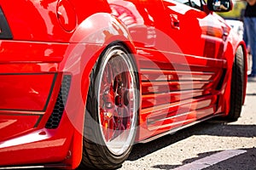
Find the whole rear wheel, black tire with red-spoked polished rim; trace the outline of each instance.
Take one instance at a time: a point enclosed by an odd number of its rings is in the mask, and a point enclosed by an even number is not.
[[[119,43],[103,51],[90,75],[81,167],[120,167],[137,131],[137,70]]]

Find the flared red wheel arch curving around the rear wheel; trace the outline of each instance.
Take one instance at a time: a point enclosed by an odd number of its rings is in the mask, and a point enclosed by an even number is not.
[[[70,99],[67,100],[67,116],[73,122],[76,130],[70,145],[72,156],[65,161],[65,164],[75,168],[79,166],[82,160],[85,113],[82,108],[85,108],[90,86],[90,71],[92,71],[103,50],[113,42],[121,43],[131,54],[136,54],[136,50],[126,26],[111,14],[106,13],[93,14],[84,20],[73,32],[69,42],[70,45],[60,68],[61,71],[68,72],[73,76]],[[134,56],[133,59],[137,66],[137,60]],[[77,96],[80,96],[79,102],[76,99]],[[73,99],[75,101],[71,101]],[[73,105],[82,106],[78,106],[74,111]],[[70,113],[68,114],[69,109]],[[76,111],[78,114],[74,114]]]

